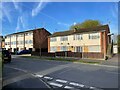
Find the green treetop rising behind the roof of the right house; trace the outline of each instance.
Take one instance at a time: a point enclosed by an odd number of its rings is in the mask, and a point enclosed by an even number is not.
[[[77,23],[75,25],[72,25],[70,29],[91,28],[91,27],[100,26],[100,25],[101,23],[99,20],[85,20],[82,23]]]

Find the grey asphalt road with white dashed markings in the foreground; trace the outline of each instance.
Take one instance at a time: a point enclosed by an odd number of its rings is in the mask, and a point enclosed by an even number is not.
[[[118,88],[117,66],[14,57],[3,68],[4,88]],[[43,81],[47,82],[43,83]]]

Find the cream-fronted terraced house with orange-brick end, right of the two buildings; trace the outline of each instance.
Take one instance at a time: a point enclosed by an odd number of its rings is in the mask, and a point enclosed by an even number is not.
[[[71,51],[90,55],[106,56],[111,43],[108,25],[86,29],[55,32],[48,38],[48,52]]]

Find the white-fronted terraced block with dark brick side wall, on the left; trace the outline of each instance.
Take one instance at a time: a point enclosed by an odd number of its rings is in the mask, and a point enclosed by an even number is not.
[[[5,36],[5,48],[12,52],[21,50],[47,50],[47,37],[50,33],[44,28],[13,33]]]

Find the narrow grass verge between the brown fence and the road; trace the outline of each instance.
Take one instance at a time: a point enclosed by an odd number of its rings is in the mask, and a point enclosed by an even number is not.
[[[86,61],[86,60],[79,60],[79,59],[73,59],[73,58],[63,58],[63,57],[39,57],[39,56],[21,56],[23,58],[33,58],[38,60],[53,60],[53,61],[68,61],[68,62],[76,62],[76,63],[88,63],[88,64],[100,64],[100,62],[97,61]]]

